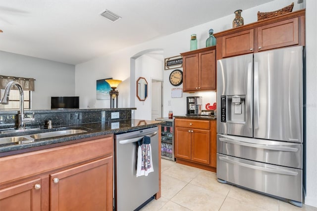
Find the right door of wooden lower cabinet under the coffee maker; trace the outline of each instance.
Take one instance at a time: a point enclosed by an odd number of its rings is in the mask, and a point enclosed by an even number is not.
[[[192,160],[210,164],[210,131],[193,129]]]

